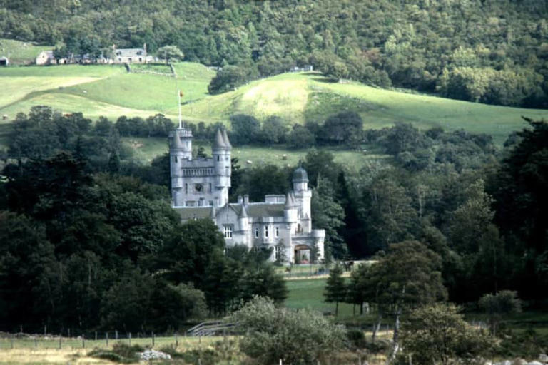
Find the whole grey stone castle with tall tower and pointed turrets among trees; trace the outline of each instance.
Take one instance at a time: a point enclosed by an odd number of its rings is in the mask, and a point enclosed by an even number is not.
[[[217,130],[211,158],[193,158],[192,132],[177,128],[169,134],[171,197],[181,220],[210,218],[228,247],[273,247],[272,261],[294,263],[323,259],[324,230],[312,229],[308,175],[302,167],[293,173],[293,191],[266,195],[250,202],[248,195],[228,202],[230,152],[226,130]]]

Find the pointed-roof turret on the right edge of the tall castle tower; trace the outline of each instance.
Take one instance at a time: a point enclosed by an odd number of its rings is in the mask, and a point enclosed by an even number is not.
[[[222,206],[228,202],[228,188],[230,187],[230,175],[232,175],[230,168],[232,146],[225,130],[217,130],[211,150],[215,165],[215,189],[221,190],[218,204]]]

